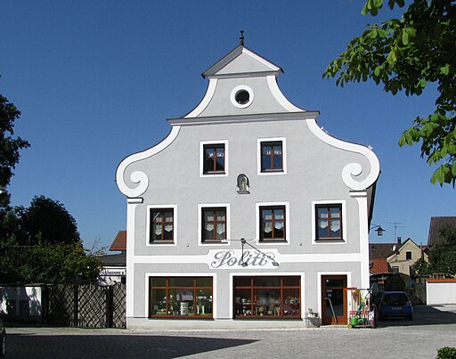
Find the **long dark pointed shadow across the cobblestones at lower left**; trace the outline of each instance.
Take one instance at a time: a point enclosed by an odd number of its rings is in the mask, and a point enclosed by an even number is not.
[[[175,358],[256,340],[160,335],[36,335],[8,334],[8,358]]]

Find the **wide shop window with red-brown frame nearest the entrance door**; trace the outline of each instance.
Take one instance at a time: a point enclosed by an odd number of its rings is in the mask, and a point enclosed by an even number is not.
[[[234,277],[234,317],[299,318],[300,292],[298,276]]]

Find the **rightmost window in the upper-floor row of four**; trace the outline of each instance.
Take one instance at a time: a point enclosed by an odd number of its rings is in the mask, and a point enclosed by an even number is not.
[[[316,205],[316,240],[342,240],[342,205]]]

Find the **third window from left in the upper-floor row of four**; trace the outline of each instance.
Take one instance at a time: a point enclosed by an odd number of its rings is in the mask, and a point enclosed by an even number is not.
[[[285,241],[285,206],[261,206],[260,241]]]

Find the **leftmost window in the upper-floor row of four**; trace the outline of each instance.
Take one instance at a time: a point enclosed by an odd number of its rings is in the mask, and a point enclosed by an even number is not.
[[[150,209],[150,242],[174,241],[175,211],[174,208],[151,208]]]

